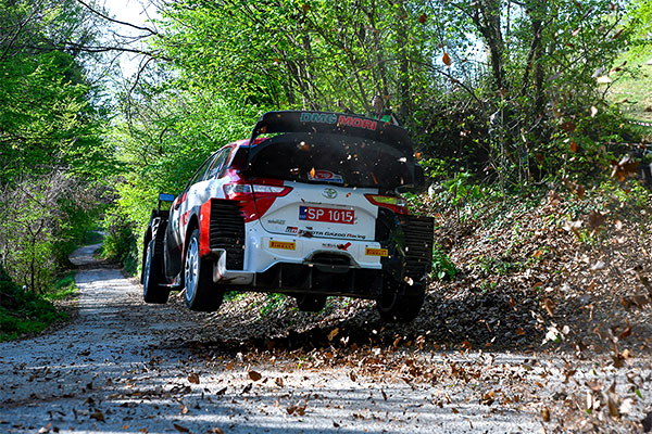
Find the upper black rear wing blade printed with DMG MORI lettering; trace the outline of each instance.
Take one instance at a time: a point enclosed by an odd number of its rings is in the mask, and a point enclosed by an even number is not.
[[[261,135],[283,132],[342,135],[373,140],[394,148],[411,162],[414,159],[412,143],[405,129],[384,120],[347,113],[310,111],[267,112],[255,124],[249,143],[253,143]],[[250,159],[253,157],[253,154],[255,154],[255,151],[250,154]]]

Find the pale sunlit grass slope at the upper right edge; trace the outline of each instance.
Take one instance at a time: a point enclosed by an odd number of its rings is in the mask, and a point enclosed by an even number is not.
[[[636,58],[625,55],[616,66],[626,60],[627,65],[622,71],[610,74],[613,84],[607,92],[607,100],[617,104],[630,119],[652,120],[652,65],[647,64],[650,59],[652,53]]]

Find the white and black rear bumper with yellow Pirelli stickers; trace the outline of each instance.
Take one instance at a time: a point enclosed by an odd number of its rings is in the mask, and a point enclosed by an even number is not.
[[[211,213],[205,257],[213,281],[229,289],[375,298],[388,283],[400,293],[423,290],[430,272],[432,218],[386,214],[381,241],[278,235],[259,220],[244,225],[227,202]]]

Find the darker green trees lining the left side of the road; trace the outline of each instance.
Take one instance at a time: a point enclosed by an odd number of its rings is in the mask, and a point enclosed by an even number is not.
[[[0,266],[46,293],[101,210],[115,170],[100,87],[86,55],[98,35],[74,0],[0,0]]]

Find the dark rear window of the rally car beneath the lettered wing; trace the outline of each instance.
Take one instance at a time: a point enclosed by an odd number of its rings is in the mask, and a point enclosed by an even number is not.
[[[244,155],[241,151],[234,164]],[[286,133],[261,142],[251,154],[246,170],[251,176],[363,188],[397,188],[414,182],[412,155],[361,138]]]

